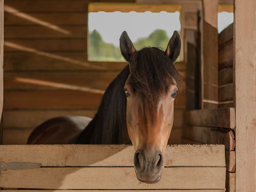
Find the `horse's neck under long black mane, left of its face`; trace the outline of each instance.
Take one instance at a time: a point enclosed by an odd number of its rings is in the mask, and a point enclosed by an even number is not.
[[[129,65],[110,83],[98,112],[75,143],[131,144],[126,125],[126,97],[123,93],[128,75]]]

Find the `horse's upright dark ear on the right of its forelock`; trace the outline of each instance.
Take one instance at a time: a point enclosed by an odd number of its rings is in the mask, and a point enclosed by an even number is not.
[[[180,39],[179,33],[178,31],[174,31],[173,36],[169,40],[165,53],[170,59],[172,59],[172,61],[175,61],[179,56],[180,47],[181,47],[181,39]]]

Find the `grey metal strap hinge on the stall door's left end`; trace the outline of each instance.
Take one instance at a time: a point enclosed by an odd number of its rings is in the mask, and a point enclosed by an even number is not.
[[[4,171],[7,169],[18,170],[18,169],[31,169],[31,168],[39,168],[39,167],[41,167],[41,163],[0,162],[0,171]]]

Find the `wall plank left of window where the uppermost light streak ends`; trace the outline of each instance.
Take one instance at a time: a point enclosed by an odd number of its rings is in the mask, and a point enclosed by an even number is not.
[[[4,38],[84,38],[87,34],[87,26],[62,26],[67,33],[60,33],[45,26],[5,26]]]

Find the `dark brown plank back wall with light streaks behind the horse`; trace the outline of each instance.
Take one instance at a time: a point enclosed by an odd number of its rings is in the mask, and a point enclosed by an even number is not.
[[[102,93],[126,65],[87,61],[89,2],[99,1],[5,0],[4,144],[25,144],[52,117],[93,117]],[[177,66],[185,75],[185,63]],[[170,144],[181,143],[185,103],[182,94]]]

